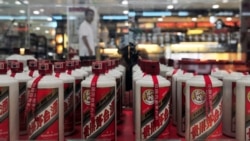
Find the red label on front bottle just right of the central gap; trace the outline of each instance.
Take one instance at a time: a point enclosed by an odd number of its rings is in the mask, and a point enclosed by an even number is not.
[[[141,139],[166,139],[170,135],[169,87],[158,88],[158,124],[155,122],[154,87],[141,87]]]

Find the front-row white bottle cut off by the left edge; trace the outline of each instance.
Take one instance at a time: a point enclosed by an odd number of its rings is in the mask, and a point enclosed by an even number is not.
[[[0,140],[19,139],[18,81],[7,75],[7,63],[0,61]]]

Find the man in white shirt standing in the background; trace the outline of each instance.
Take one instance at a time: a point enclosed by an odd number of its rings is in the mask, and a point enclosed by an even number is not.
[[[79,28],[79,57],[80,60],[95,59],[95,39],[92,22],[95,16],[94,10],[88,8],[85,11],[85,20]]]

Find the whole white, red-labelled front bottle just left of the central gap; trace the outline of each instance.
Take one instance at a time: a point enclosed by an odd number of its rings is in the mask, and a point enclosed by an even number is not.
[[[83,139],[116,140],[116,81],[105,75],[104,65],[93,62],[93,74],[81,83]]]

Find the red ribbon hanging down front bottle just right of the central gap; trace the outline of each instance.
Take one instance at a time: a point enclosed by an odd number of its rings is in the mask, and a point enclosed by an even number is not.
[[[157,75],[152,75],[153,83],[154,83],[154,119],[155,124],[159,123],[159,82],[157,79]]]

